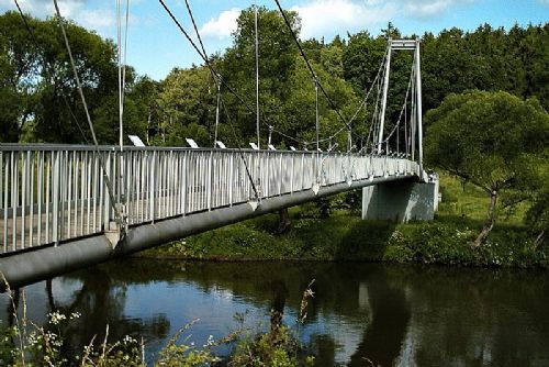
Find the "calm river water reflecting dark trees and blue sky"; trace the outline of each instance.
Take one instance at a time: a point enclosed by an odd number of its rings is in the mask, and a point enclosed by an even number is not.
[[[38,324],[53,309],[81,313],[67,331],[74,349],[109,324],[113,338],[143,336],[152,362],[195,319],[187,335],[198,345],[237,329],[236,319],[268,326],[270,310],[296,327],[312,279],[300,336],[317,366],[549,366],[547,270],[126,259],[26,287],[25,298]],[[10,314],[2,294],[3,325]]]

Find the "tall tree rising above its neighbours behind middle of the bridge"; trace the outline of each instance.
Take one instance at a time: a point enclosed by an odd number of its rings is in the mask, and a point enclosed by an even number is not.
[[[299,34],[300,19],[295,12],[287,12],[292,30]],[[220,71],[225,81],[244,99],[248,108],[255,109],[256,60],[254,10],[242,11],[237,20],[237,30],[233,34],[232,47],[227,48],[220,60]],[[291,94],[288,82],[294,70],[298,48],[290,30],[278,11],[259,8],[259,103],[261,120],[281,130],[285,121],[282,105]],[[224,100],[234,121],[238,122],[239,134],[247,141],[255,141],[256,115],[248,108],[223,89]],[[267,137],[267,126],[261,123],[261,137]],[[249,140],[248,140],[249,138]],[[273,136],[274,144],[283,142],[281,136]],[[288,142],[285,142],[288,143]],[[262,143],[265,145],[265,143]]]

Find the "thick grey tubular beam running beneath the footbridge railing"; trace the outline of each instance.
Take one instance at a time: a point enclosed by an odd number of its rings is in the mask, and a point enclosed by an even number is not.
[[[206,232],[258,215],[299,205],[316,198],[394,181],[416,181],[416,176],[390,176],[355,180],[350,185],[337,184],[313,190],[281,194],[261,200],[257,208],[239,203],[191,215],[177,215],[165,220],[131,226],[115,245],[105,234],[90,235],[57,246],[43,246],[29,252],[0,258],[0,270],[10,287],[18,288],[83,267],[97,265],[116,257],[159,246],[186,236]]]

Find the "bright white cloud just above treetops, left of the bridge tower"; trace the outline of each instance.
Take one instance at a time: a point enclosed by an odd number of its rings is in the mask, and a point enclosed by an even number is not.
[[[321,37],[389,22],[397,7],[381,0],[313,0],[291,8],[302,19],[301,36]]]

